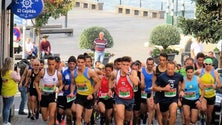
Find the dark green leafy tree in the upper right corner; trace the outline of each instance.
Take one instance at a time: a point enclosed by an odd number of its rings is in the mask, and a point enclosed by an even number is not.
[[[222,0],[193,1],[196,2],[196,18],[180,17],[178,26],[185,35],[200,37],[202,42],[217,43],[222,39]],[[220,60],[222,64],[222,57]]]

